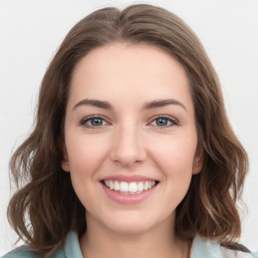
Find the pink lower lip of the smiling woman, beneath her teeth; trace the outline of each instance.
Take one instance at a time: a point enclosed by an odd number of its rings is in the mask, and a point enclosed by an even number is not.
[[[124,194],[120,193],[114,190],[110,190],[105,185],[102,185],[103,190],[105,191],[106,195],[113,201],[119,204],[138,204],[143,202],[145,199],[147,199],[155,190],[156,186],[153,186],[151,189],[147,191],[143,191],[141,193],[135,193],[135,194]]]

